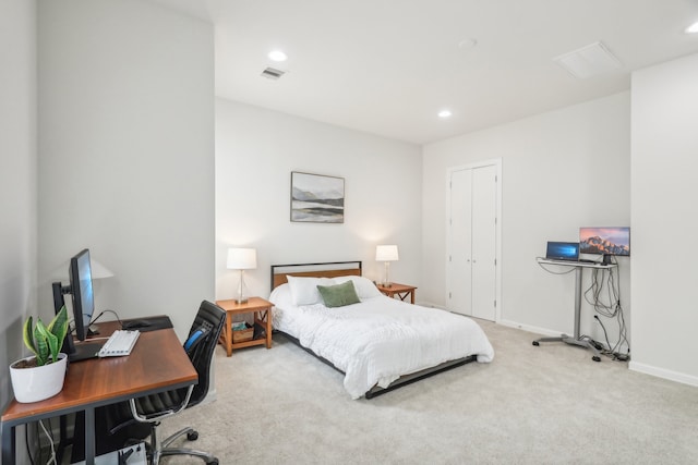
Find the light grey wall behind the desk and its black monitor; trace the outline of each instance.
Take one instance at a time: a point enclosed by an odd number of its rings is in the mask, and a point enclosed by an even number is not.
[[[183,338],[214,298],[213,26],[136,0],[43,1],[38,24],[41,309],[88,247],[116,274],[97,311]]]

